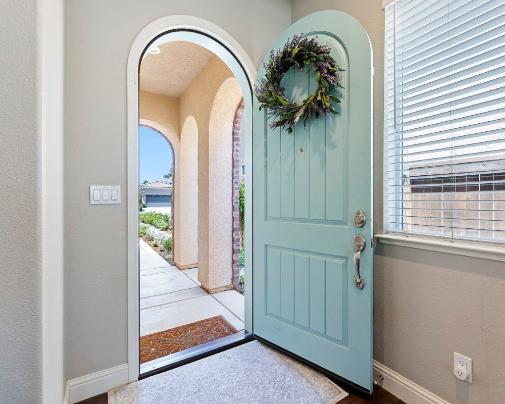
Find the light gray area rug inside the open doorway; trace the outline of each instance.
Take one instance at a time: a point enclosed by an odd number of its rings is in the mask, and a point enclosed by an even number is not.
[[[348,394],[259,341],[109,391],[109,404],[334,404]]]

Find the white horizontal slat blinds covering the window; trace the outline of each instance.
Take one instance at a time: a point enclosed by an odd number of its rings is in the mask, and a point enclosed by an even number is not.
[[[389,230],[505,241],[505,0],[385,8]]]

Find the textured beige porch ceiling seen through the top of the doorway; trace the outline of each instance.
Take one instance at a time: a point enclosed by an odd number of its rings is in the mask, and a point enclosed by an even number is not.
[[[168,42],[158,47],[158,55],[146,54],[140,64],[140,89],[176,98],[214,55],[192,42]]]

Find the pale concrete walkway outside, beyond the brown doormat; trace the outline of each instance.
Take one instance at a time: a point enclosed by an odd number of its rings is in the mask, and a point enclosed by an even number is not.
[[[200,288],[197,268],[179,270],[140,240],[140,336],[215,316],[244,329],[244,296]]]

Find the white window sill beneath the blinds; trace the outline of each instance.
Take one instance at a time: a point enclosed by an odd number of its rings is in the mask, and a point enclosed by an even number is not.
[[[505,247],[404,234],[376,234],[380,243],[505,262]]]

